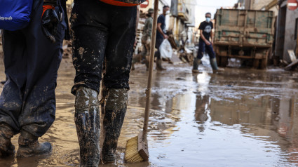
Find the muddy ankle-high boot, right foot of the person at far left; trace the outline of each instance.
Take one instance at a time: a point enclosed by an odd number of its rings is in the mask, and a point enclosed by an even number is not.
[[[32,135],[27,131],[21,130],[17,156],[29,157],[50,153],[52,151],[52,145],[50,145],[50,142],[39,143],[38,138],[39,137]]]

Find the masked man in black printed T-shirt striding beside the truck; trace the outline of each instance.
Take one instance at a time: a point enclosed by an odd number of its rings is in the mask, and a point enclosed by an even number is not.
[[[224,69],[217,67],[217,62],[215,58],[215,51],[213,50],[213,23],[211,22],[211,13],[205,14],[206,20],[201,22],[198,29],[200,29],[200,39],[198,41],[198,55],[194,59],[194,67],[192,72],[198,73],[198,65],[201,63],[201,59],[203,58],[203,54],[206,51],[210,58],[210,65],[212,67],[213,72],[224,71]],[[210,40],[211,38],[211,40]]]

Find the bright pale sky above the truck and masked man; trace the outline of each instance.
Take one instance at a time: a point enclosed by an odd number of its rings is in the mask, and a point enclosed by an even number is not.
[[[205,13],[212,13],[212,18],[217,8],[234,6],[238,0],[194,0],[196,1],[196,27],[205,20]]]

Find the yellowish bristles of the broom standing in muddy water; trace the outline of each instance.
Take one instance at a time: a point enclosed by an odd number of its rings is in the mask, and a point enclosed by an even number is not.
[[[124,160],[129,163],[135,163],[143,161],[142,156],[139,154],[137,150],[138,145],[138,136],[131,138],[126,143],[126,154],[124,156]]]

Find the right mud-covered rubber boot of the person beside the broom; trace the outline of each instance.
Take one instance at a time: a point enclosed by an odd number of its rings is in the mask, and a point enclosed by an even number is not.
[[[114,163],[118,138],[126,115],[128,104],[128,89],[109,89],[109,95],[104,107],[105,138],[102,145],[102,162]]]

